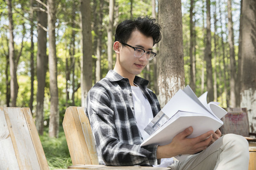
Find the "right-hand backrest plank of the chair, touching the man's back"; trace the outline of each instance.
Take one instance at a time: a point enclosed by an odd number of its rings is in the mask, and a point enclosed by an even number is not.
[[[96,144],[94,142],[93,133],[90,127],[90,121],[84,113],[84,107],[77,107],[76,109],[78,112],[82,130],[83,130],[86,146],[88,148],[89,156],[92,162],[91,164],[99,164],[99,160],[96,152]]]

